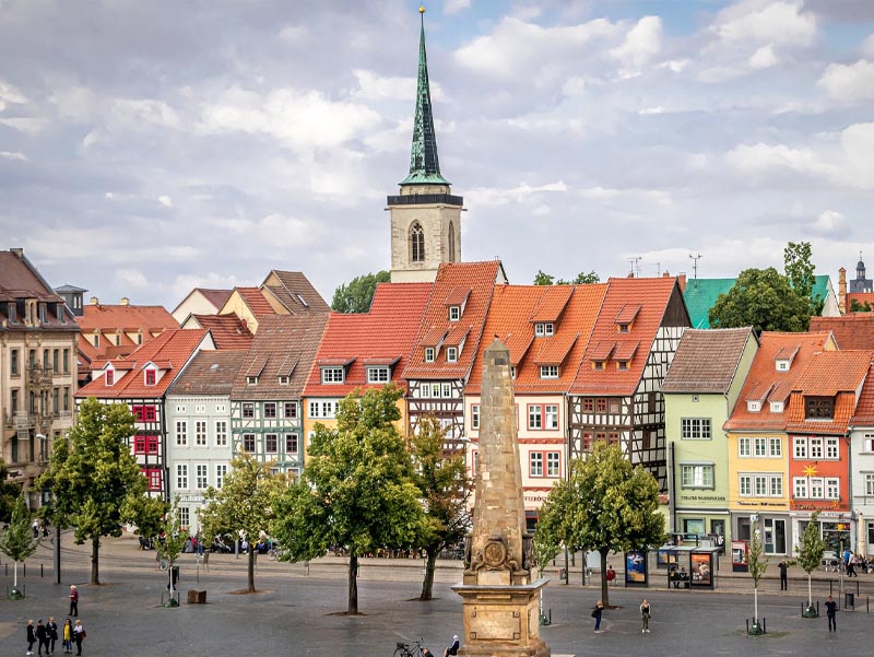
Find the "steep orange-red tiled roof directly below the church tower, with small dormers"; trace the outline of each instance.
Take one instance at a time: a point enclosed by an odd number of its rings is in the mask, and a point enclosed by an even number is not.
[[[444,262],[437,270],[437,278],[432,288],[430,297],[424,313],[422,326],[412,347],[412,353],[402,377],[432,378],[432,379],[464,379],[470,375],[480,339],[483,335],[486,314],[492,303],[492,295],[498,281],[503,280],[503,268],[499,260],[486,262]],[[470,296],[464,305],[464,312],[459,321],[449,321],[445,302],[452,290],[468,289]],[[458,362],[446,361],[446,350],[440,349],[434,363],[425,362],[425,347],[433,336],[440,330],[459,330],[458,327],[470,329],[470,335],[464,349],[458,356]]]

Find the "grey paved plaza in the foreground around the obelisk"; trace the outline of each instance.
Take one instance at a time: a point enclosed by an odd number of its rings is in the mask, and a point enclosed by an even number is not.
[[[331,565],[312,564],[307,574],[302,564],[265,561],[258,564],[257,595],[238,595],[246,586],[246,562],[232,555],[211,555],[210,571],[200,572],[193,555],[180,559],[182,603],[161,607],[166,573],[155,568],[154,553],[141,552],[135,540],[107,541],[102,550],[99,587],[88,582],[85,547],[73,547],[64,537],[62,584],[55,584],[49,548],[28,560],[27,597],[0,600],[0,655],[23,655],[25,624],[54,615],[59,624],[68,611],[70,584],[81,593],[80,618],[88,632],[83,647],[87,656],[138,655],[282,655],[314,657],[391,657],[399,641],[424,638],[437,654],[462,634],[461,599],[449,588],[454,567],[441,568],[435,585],[436,599],[415,600],[421,582],[412,578],[416,567],[362,568],[359,610],[346,617],[346,580],[341,560]],[[45,564],[40,578],[39,564]],[[3,566],[5,561],[3,561]],[[381,565],[381,564],[380,564]],[[3,574],[0,566],[0,575]],[[401,575],[406,573],[406,578]],[[863,576],[864,577],[864,576]],[[871,575],[874,582],[874,575]],[[12,585],[11,565],[3,577]],[[863,584],[867,584],[862,579]],[[741,584],[736,582],[735,584]],[[700,655],[806,655],[869,654],[872,617],[865,606],[838,614],[838,633],[829,634],[825,618],[804,620],[800,607],[806,584],[791,582],[790,595],[777,591],[759,596],[760,615],[768,635],[748,637],[744,621],[752,617],[752,595],[720,591],[666,589],[611,590],[611,602],[621,606],[604,614],[605,632],[593,633],[591,608],[599,591],[579,585],[550,586],[544,607],[552,624],[542,636],[553,655],[659,656]],[[822,586],[822,583],[820,583]],[[208,591],[206,605],[188,605],[190,588]],[[637,607],[646,596],[652,605],[652,632],[641,634]],[[818,596],[820,600],[824,596]],[[56,648],[60,653],[60,648]]]

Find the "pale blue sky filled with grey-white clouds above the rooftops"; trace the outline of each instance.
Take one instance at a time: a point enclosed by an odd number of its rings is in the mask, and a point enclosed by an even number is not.
[[[871,0],[434,0],[425,32],[463,260],[874,271]],[[271,269],[330,303],[390,267],[418,35],[409,0],[0,0],[0,248],[103,303]]]

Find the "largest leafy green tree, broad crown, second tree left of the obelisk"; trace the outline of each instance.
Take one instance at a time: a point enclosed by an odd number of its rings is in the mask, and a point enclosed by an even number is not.
[[[336,429],[316,424],[300,481],[275,503],[274,533],[287,559],[315,559],[331,545],[349,552],[350,614],[358,613],[358,559],[412,548],[423,535],[421,493],[395,426],[401,396],[389,385],[342,400]]]

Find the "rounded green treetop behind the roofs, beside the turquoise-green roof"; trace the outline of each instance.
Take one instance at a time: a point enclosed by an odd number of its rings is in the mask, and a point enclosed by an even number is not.
[[[741,272],[734,286],[720,294],[710,308],[710,326],[752,326],[761,331],[806,331],[811,324],[810,297],[801,296],[773,267]]]

